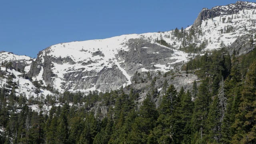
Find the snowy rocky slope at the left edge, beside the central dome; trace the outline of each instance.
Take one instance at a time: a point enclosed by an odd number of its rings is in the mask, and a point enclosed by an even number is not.
[[[27,73],[34,59],[28,56],[18,56],[11,52],[0,52],[0,88],[11,92],[15,88],[16,96],[32,96],[52,94],[48,90],[34,86]],[[6,65],[7,64],[7,65]],[[10,65],[11,64],[11,65]]]

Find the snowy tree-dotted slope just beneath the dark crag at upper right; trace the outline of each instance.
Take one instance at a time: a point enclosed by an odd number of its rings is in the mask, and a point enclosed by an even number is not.
[[[249,33],[249,30],[255,29],[255,10],[242,10],[237,14],[222,15],[212,20],[202,21],[202,32],[204,36],[200,39],[208,40],[206,50],[220,48],[220,43],[223,42],[226,46],[231,45],[238,37]],[[230,21],[228,21],[230,20]],[[226,32],[228,28],[232,30]]]

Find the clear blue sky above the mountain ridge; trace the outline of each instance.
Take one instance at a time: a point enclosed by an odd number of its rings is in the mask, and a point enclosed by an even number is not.
[[[168,31],[236,0],[2,0],[0,51],[36,57],[62,42]]]

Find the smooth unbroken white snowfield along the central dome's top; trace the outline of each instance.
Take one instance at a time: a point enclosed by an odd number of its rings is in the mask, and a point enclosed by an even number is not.
[[[49,52],[54,57],[72,58],[74,62],[89,60],[98,60],[102,57],[94,56],[93,53],[101,51],[104,54],[104,59],[115,58],[115,54],[119,50],[127,50],[124,45],[130,38],[140,38],[138,34],[122,35],[102,40],[87,40],[81,42],[68,42],[56,44],[50,47]]]

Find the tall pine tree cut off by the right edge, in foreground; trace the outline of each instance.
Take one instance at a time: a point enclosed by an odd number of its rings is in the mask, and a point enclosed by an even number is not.
[[[236,134],[232,137],[232,143],[256,143],[256,60],[246,74],[241,100],[233,125]]]

